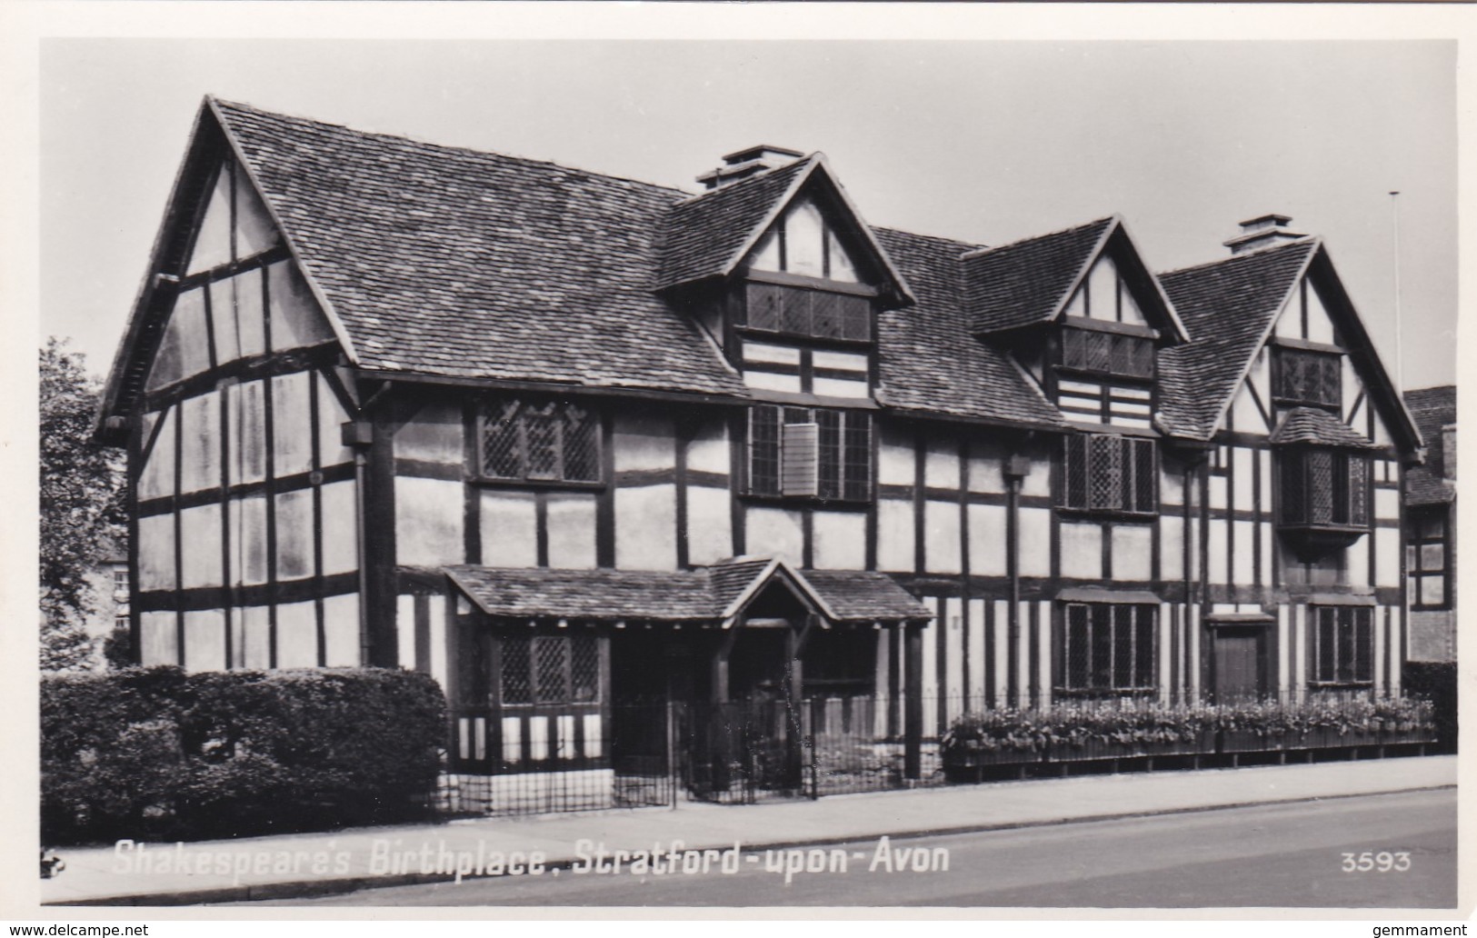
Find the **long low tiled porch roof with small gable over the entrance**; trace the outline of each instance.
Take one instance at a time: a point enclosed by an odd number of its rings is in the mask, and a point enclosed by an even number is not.
[[[795,570],[738,557],[696,570],[558,570],[455,566],[446,575],[489,616],[595,622],[722,622],[767,582],[789,578],[830,622],[902,622],[932,613],[886,573]]]

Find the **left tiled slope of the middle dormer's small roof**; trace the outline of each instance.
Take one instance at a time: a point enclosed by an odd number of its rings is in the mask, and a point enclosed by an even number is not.
[[[975,332],[1049,321],[1077,284],[1114,219],[1027,238],[963,260],[963,307]]]

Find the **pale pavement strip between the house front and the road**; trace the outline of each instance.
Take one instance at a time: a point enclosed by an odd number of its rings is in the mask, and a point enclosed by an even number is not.
[[[1456,756],[994,781],[758,805],[679,802],[538,817],[357,827],[191,843],[61,848],[46,906],[189,906],[352,892],[569,866],[604,845],[789,848],[1353,798],[1456,784]],[[588,843],[582,843],[588,842]],[[499,867],[498,863],[504,866]]]

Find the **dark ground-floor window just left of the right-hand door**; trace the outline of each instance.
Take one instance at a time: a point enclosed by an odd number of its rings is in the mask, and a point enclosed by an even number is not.
[[[1068,603],[1062,629],[1062,690],[1152,691],[1154,606]]]

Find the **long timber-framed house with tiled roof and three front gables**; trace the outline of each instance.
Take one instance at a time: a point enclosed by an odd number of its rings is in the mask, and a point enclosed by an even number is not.
[[[700,182],[207,99],[99,424],[142,663],[427,671],[487,773],[653,696],[916,744],[1399,690],[1421,439],[1322,239],[1155,273],[1118,217],[873,227],[820,154]]]

